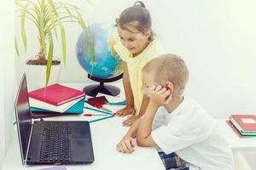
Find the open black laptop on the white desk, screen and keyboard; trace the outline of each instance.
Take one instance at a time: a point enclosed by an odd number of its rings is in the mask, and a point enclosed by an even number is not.
[[[24,74],[15,99],[22,164],[89,164],[94,161],[89,122],[32,120]]]

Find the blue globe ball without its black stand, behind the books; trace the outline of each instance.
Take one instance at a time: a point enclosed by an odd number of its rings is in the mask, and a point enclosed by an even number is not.
[[[90,37],[88,39],[88,53],[85,54],[84,33],[77,42],[77,58],[84,71],[100,79],[117,77],[123,72],[122,59],[115,52],[113,46],[118,41],[116,26],[104,26],[96,23],[90,26],[90,33],[94,45],[94,64],[91,62]],[[92,65],[93,64],[93,65]]]

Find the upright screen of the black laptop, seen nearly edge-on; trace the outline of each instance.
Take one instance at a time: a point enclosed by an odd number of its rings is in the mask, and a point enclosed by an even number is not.
[[[32,125],[32,117],[28,103],[25,74],[21,78],[20,88],[18,89],[17,97],[15,100],[15,116],[20,140],[20,153],[22,163],[24,164]]]

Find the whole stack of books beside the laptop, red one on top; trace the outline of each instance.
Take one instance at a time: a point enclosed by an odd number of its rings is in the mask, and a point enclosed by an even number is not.
[[[28,96],[33,117],[83,113],[84,92],[58,83],[36,89]]]

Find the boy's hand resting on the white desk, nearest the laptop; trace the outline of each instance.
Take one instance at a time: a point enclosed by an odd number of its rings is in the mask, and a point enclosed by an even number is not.
[[[118,144],[116,144],[116,150],[122,153],[131,153],[134,151],[135,145],[136,139],[125,136]]]

